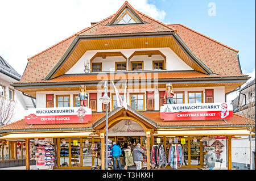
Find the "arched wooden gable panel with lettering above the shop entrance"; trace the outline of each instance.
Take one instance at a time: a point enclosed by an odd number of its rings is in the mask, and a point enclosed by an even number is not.
[[[146,136],[146,132],[135,121],[121,120],[109,129],[109,136]]]

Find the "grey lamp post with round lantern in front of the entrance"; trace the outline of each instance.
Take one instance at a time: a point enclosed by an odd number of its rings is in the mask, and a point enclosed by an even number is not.
[[[110,102],[110,98],[108,96],[108,86],[107,82],[105,82],[105,93],[104,95],[100,98],[100,101],[103,104],[106,104],[106,142],[105,142],[105,169],[108,170],[108,104]]]

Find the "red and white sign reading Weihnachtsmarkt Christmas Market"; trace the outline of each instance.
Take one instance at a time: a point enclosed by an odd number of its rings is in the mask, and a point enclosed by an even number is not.
[[[164,104],[160,118],[164,121],[217,120],[233,116],[233,106],[227,103]]]

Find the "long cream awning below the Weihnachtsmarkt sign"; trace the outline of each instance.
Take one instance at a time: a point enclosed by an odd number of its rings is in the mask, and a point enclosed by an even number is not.
[[[233,136],[249,135],[246,129],[221,129],[221,130],[176,130],[176,131],[157,131],[154,136]],[[255,135],[255,133],[252,133]]]

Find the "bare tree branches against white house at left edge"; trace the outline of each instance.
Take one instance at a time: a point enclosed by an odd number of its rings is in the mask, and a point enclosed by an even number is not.
[[[14,115],[15,102],[8,98],[0,97],[0,127],[9,124]]]

